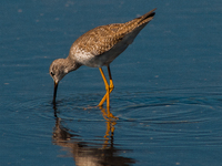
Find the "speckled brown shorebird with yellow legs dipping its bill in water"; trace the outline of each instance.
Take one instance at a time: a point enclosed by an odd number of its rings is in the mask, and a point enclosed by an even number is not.
[[[138,33],[153,19],[155,9],[125,23],[113,23],[97,27],[77,39],[70,48],[67,59],[54,60],[49,73],[54,81],[52,103],[56,104],[59,82],[68,73],[75,71],[81,65],[99,68],[104,81],[107,93],[98,106],[107,101],[110,107],[110,93],[114,89],[110,63],[130,45]],[[108,68],[110,84],[108,83],[102,66]]]

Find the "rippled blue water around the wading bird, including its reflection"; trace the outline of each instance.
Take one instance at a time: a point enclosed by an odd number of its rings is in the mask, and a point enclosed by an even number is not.
[[[1,165],[222,164],[222,2],[1,3]],[[51,62],[88,30],[153,8],[154,20],[111,64],[119,120],[95,107],[105,90],[87,66],[61,81],[53,107]]]

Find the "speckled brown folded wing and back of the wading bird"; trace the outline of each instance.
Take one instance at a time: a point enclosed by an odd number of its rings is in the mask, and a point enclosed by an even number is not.
[[[90,52],[93,55],[100,55],[113,48],[129,33],[135,31],[135,33],[133,33],[134,37],[132,38],[133,41],[140,30],[153,19],[154,10],[155,9],[127,23],[114,23],[94,28],[75,40],[72,46],[73,49]]]

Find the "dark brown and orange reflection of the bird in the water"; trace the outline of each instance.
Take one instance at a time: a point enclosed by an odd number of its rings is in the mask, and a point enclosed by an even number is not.
[[[113,136],[117,117],[109,110],[100,108],[107,123],[104,142],[102,144],[93,145],[92,143],[83,142],[80,135],[72,134],[74,131],[63,127],[62,120],[58,117],[56,106],[53,144],[65,147],[65,151],[73,157],[77,166],[130,166],[134,164],[134,159],[120,156],[121,152],[125,152],[125,149],[114,147]]]

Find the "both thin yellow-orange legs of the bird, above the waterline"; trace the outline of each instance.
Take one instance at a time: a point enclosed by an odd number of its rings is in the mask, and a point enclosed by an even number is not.
[[[108,81],[104,76],[104,73],[102,71],[101,68],[99,68],[100,70],[100,73],[102,75],[102,79],[104,81],[104,85],[105,85],[105,90],[107,90],[107,93],[105,95],[103,96],[103,98],[100,101],[99,105],[98,106],[102,106],[104,101],[107,100],[107,107],[110,107],[110,93],[112,92],[112,90],[114,89],[114,85],[113,85],[113,82],[112,82],[112,75],[111,75],[111,72],[110,72],[110,66],[108,65],[108,73],[109,73],[109,79],[110,79],[110,85],[108,84]]]

